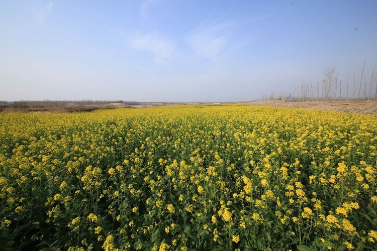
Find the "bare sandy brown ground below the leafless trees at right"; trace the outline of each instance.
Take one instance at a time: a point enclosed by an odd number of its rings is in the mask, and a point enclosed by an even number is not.
[[[248,102],[250,105],[269,105],[289,108],[308,108],[317,110],[334,110],[358,112],[377,115],[377,101],[334,101],[334,102],[285,102],[282,100]]]

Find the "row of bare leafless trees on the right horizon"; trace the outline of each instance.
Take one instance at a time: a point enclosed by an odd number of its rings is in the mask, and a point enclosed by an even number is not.
[[[337,100],[376,100],[377,78],[374,70],[367,78],[364,73],[365,60],[361,71],[361,77],[355,78],[355,74],[347,76],[343,81],[338,78],[335,68],[331,67],[324,73],[324,77],[317,83],[303,83],[290,90],[272,92],[263,95],[258,100],[286,100],[286,101],[337,101]]]

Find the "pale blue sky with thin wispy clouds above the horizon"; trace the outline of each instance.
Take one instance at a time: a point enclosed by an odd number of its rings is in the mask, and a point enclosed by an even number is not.
[[[248,101],[377,72],[377,1],[0,0],[0,100]],[[369,77],[370,78],[370,77]]]

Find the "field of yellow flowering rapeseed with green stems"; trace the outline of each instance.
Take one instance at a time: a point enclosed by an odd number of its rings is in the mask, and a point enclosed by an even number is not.
[[[7,249],[375,249],[377,118],[250,105],[0,114]]]

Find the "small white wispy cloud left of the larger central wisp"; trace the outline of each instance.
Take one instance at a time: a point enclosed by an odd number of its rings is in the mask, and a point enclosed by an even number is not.
[[[132,36],[127,36],[126,40],[132,49],[152,54],[154,61],[159,64],[166,63],[176,49],[175,42],[158,32],[137,32]]]

